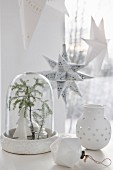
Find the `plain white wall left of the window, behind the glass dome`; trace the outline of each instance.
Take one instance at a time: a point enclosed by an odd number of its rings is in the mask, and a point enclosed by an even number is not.
[[[43,59],[43,55],[57,60],[59,53],[62,52],[63,20],[63,14],[46,6],[30,46],[25,50],[22,42],[18,0],[2,0],[2,131],[4,131],[5,98],[8,85],[19,73],[48,70],[49,66]],[[64,109],[64,106],[61,106],[61,109]],[[58,115],[56,115],[57,118]],[[64,123],[61,121],[58,124],[55,123],[56,128],[59,129],[60,124],[64,127]],[[63,131],[63,127],[61,131]]]

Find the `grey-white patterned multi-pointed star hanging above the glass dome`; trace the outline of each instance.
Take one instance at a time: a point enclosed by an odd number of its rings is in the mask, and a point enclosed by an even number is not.
[[[79,70],[85,67],[85,65],[68,62],[65,44],[63,44],[63,54],[62,56],[59,55],[58,62],[48,57],[45,58],[52,70],[41,72],[41,74],[47,77],[51,82],[56,82],[58,98],[62,96],[66,102],[66,94],[69,88],[81,96],[76,81],[83,81],[84,79],[92,78],[89,75],[79,72]]]

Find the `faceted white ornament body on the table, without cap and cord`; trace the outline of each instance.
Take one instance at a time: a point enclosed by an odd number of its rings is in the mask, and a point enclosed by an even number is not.
[[[78,138],[60,137],[50,146],[56,164],[74,167],[80,160],[82,149]]]

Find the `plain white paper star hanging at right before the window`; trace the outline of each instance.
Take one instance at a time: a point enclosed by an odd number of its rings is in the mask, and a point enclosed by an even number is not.
[[[83,40],[89,45],[85,64],[87,65],[95,59],[95,70],[99,71],[105,56],[108,55],[108,40],[105,37],[103,19],[100,21],[99,26],[97,26],[94,19],[91,18],[90,39]]]

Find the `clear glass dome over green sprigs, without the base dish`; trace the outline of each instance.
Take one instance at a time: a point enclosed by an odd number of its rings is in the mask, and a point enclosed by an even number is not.
[[[18,140],[49,138],[54,130],[53,93],[49,80],[38,73],[23,73],[7,94],[5,136]]]

